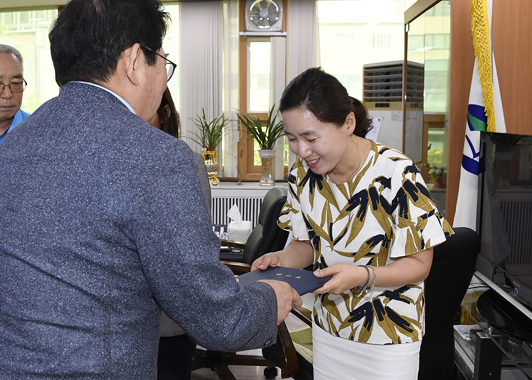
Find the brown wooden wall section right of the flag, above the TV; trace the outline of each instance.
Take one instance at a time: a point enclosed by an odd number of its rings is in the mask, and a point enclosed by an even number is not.
[[[532,135],[532,1],[493,2],[492,34],[508,133]]]

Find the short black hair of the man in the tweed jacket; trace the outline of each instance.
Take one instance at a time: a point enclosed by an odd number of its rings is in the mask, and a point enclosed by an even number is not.
[[[169,21],[159,0],[71,0],[48,35],[57,84],[106,81],[128,47],[159,50]],[[156,55],[143,52],[154,65]]]

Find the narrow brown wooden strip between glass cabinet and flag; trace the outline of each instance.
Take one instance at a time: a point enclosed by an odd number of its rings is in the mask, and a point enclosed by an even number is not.
[[[467,106],[475,53],[471,37],[471,0],[451,2],[451,81],[449,100],[449,152],[447,156],[447,194],[445,218],[454,220],[460,166],[464,146]]]

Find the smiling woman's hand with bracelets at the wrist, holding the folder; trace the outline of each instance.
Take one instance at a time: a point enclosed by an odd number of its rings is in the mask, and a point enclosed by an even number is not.
[[[373,270],[371,270],[370,275],[369,286],[373,283]],[[335,264],[328,268],[315,270],[314,276],[332,276],[332,278],[312,293],[341,294],[356,286],[364,285],[368,279],[368,271],[364,267],[356,267],[350,264]]]

